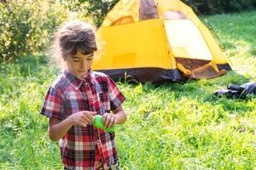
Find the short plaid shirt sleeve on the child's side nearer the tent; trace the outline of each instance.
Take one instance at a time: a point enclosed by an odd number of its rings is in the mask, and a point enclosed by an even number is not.
[[[125,96],[119,91],[115,82],[108,77],[108,93],[110,98],[110,110],[113,111],[125,101]]]

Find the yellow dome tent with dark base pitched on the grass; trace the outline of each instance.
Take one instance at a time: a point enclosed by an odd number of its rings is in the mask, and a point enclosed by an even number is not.
[[[93,69],[139,82],[181,82],[230,71],[211,32],[180,0],[120,0],[97,31]]]

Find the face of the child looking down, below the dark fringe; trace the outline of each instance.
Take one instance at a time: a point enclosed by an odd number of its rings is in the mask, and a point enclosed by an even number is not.
[[[88,70],[90,69],[92,64],[92,59],[93,54],[84,55],[80,51],[75,55],[67,54],[67,69],[75,77],[79,77],[80,79],[82,79],[88,74]]]

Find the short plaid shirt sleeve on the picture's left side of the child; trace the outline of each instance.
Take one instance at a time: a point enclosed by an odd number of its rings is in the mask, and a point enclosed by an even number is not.
[[[61,121],[63,113],[63,99],[60,90],[49,88],[45,99],[41,114],[49,118],[55,118]]]

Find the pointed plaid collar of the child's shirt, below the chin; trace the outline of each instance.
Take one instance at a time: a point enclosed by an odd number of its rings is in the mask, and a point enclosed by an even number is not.
[[[75,77],[71,72],[67,70],[64,71],[64,77],[67,79],[67,82],[69,82],[76,90],[81,87],[83,82],[88,82],[91,85],[94,85],[96,82],[95,74],[91,69],[89,70],[89,74],[86,75],[83,79]]]

